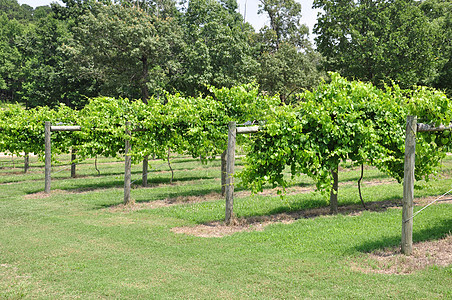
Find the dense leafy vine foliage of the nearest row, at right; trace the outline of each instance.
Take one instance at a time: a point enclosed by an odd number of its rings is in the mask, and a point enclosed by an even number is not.
[[[307,174],[317,188],[330,191],[331,170],[340,163],[369,164],[403,178],[405,123],[408,115],[432,125],[449,124],[452,104],[428,88],[378,89],[370,83],[347,81],[337,73],[331,82],[307,91],[295,106],[279,106],[267,115],[262,133],[246,147],[245,186],[262,191],[265,184],[287,187],[291,178]],[[435,173],[450,150],[448,133],[418,134],[416,177]],[[290,167],[291,178],[283,176]]]

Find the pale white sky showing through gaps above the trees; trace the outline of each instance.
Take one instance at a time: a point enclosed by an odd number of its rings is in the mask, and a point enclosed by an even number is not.
[[[316,23],[317,13],[319,10],[312,9],[313,0],[296,1],[301,3],[302,23],[306,24],[312,33],[312,28]],[[32,7],[50,5],[51,2],[57,2],[60,4],[63,3],[58,0],[18,0],[18,2],[20,4],[28,4]],[[245,17],[245,21],[251,23],[255,30],[259,30],[262,26],[269,24],[267,16],[257,14],[259,0],[237,0],[237,3],[239,4],[240,13]],[[312,34],[310,39],[313,39]]]

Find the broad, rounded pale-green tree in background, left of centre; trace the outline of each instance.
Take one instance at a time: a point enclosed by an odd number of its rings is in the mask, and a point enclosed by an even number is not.
[[[180,29],[173,18],[160,18],[137,6],[100,5],[74,28],[66,47],[73,72],[102,83],[111,96],[141,98],[168,89],[180,68]]]

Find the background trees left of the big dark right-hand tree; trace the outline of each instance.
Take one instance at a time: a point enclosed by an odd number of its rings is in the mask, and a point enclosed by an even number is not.
[[[275,30],[260,37],[236,0],[64,0],[51,11],[1,1],[0,94],[28,107],[82,108],[98,95],[197,97],[252,81],[288,102],[320,77],[293,1],[266,2]]]

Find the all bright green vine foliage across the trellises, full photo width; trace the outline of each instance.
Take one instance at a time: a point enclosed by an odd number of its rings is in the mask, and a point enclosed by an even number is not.
[[[148,104],[127,99],[95,98],[80,111],[25,110],[9,105],[0,110],[0,152],[44,152],[44,121],[80,125],[80,132],[52,137],[53,153],[77,151],[80,158],[117,157],[124,152],[126,122],[133,161],[148,155],[165,157],[168,149],[193,157],[214,157],[227,148],[227,124],[257,120],[260,132],[243,139],[245,167],[242,183],[253,191],[266,184],[287,187],[292,178],[307,174],[318,189],[337,194],[342,162],[372,165],[401,181],[405,148],[405,122],[437,126],[452,120],[452,103],[440,91],[397,85],[378,89],[370,83],[348,81],[339,74],[314,91],[298,95],[298,103],[285,105],[278,97],[259,93],[252,84],[211,89],[211,96],[187,98],[166,95]],[[449,131],[419,135],[416,141],[416,178],[428,179],[451,150]]]

